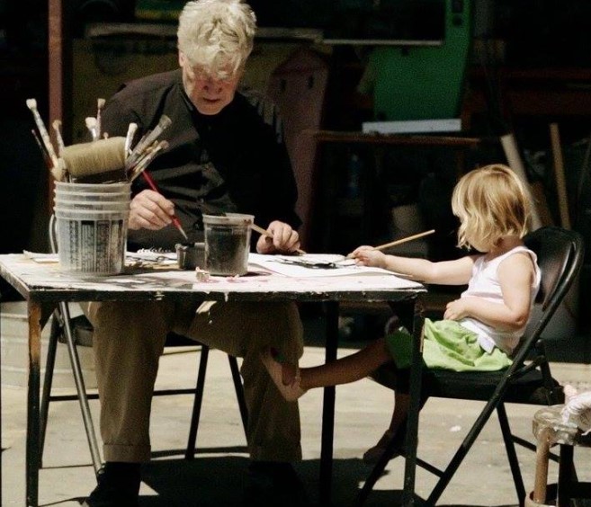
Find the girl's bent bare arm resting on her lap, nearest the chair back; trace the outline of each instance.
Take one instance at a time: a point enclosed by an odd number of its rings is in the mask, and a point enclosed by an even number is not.
[[[507,257],[499,264],[497,274],[503,303],[491,303],[483,298],[460,298],[447,305],[443,318],[459,320],[469,316],[503,331],[526,325],[534,276],[531,257],[525,253]]]

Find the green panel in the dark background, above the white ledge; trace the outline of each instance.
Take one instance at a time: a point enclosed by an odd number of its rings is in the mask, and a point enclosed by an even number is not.
[[[446,0],[442,46],[372,51],[375,120],[457,118],[471,42],[470,0]]]

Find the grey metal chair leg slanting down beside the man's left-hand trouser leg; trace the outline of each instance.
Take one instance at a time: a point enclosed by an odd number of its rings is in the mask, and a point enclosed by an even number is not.
[[[99,450],[98,440],[96,440],[96,433],[94,432],[93,416],[90,413],[90,406],[88,405],[88,396],[86,396],[85,380],[82,376],[82,368],[80,367],[80,358],[76,350],[76,342],[74,340],[74,332],[70,325],[70,311],[66,303],[59,303],[59,311],[64,322],[64,334],[66,336],[67,351],[70,357],[70,364],[72,372],[74,373],[74,383],[76,384],[76,393],[78,395],[78,402],[80,403],[80,411],[82,412],[82,420],[85,424],[86,439],[90,447],[91,458],[93,459],[94,472],[98,471],[103,466],[101,452]]]

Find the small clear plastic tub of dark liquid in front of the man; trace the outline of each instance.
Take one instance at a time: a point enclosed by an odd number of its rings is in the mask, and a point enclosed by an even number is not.
[[[205,269],[212,275],[240,276],[248,271],[253,215],[203,215]]]

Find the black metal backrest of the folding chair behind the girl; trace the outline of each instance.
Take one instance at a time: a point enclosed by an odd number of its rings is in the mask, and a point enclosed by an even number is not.
[[[524,237],[525,245],[538,256],[542,284],[535,301],[539,315],[528,325],[516,354],[523,362],[540,339],[551,317],[578,276],[585,257],[585,243],[578,232],[562,227],[541,227]]]

